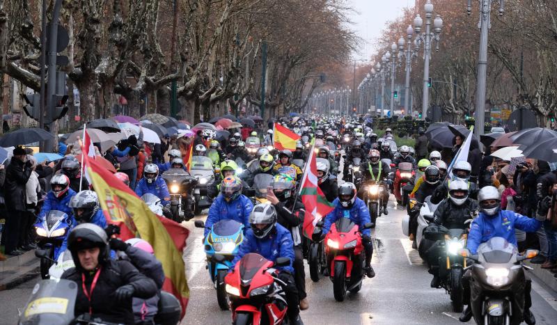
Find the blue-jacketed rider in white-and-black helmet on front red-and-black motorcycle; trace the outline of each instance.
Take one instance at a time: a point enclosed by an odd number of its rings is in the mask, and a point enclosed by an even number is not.
[[[247,253],[258,253],[269,261],[275,262],[277,257],[290,258],[290,265],[276,267],[278,278],[285,286],[286,302],[288,303],[288,318],[293,324],[303,324],[299,317],[299,296],[292,276],[294,268],[292,261],[294,255],[294,242],[290,230],[277,223],[278,216],[276,209],[269,203],[261,203],[253,207],[253,212],[249,215],[250,228],[246,231],[244,241],[238,248],[238,253],[232,264],[242,260]]]

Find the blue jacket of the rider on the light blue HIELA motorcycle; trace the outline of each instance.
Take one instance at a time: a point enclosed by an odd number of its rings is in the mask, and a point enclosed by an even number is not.
[[[203,236],[206,237],[212,225],[221,220],[234,220],[249,228],[249,214],[251,214],[251,210],[253,210],[253,203],[242,194],[231,202],[226,202],[222,195],[217,196],[209,208]]]

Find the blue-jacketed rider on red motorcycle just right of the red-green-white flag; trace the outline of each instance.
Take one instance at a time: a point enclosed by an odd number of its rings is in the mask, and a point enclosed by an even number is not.
[[[366,276],[373,278],[375,271],[371,267],[371,256],[373,255],[371,230],[364,229],[364,225],[371,222],[370,212],[368,207],[366,207],[366,203],[363,203],[363,200],[356,196],[356,192],[356,186],[353,183],[346,182],[340,184],[338,187],[338,198],[333,201],[335,209],[325,216],[322,237],[324,238],[327,235],[331,225],[340,218],[349,218],[350,221],[356,223],[359,229],[363,229],[361,230],[361,242],[366,250],[366,266],[364,267]]]

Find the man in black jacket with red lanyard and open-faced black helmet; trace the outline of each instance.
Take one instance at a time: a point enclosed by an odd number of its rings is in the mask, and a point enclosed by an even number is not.
[[[111,260],[107,233],[97,225],[77,225],[68,238],[75,267],[62,274],[77,284],[74,315],[89,314],[104,322],[134,324],[132,298],[148,299],[157,285],[130,262]]]

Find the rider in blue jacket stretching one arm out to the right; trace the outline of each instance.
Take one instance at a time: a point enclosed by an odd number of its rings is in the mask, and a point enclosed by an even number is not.
[[[480,244],[489,241],[493,237],[503,237],[510,244],[517,246],[515,228],[524,232],[535,232],[546,218],[545,214],[536,214],[535,218],[528,218],[510,210],[502,210],[501,194],[499,194],[495,187],[483,187],[480,189],[478,192],[478,205],[480,207],[480,215],[472,221],[468,239],[466,240],[466,248],[472,254],[477,253]],[[462,280],[464,302],[467,303],[470,299],[469,271],[464,274]],[[532,280],[526,278],[526,287],[524,288],[524,322],[528,325],[535,324],[535,317],[530,310],[532,306],[531,285]],[[472,308],[466,306],[466,309],[460,316],[460,322],[468,322],[471,317]]]

